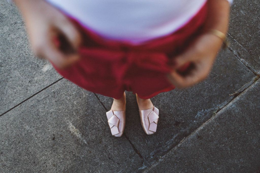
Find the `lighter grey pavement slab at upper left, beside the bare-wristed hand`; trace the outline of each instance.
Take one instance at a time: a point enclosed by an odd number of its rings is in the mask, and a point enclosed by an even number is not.
[[[61,78],[34,57],[18,9],[0,1],[0,115]]]

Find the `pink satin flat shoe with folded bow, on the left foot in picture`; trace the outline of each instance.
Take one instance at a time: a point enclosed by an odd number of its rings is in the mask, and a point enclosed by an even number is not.
[[[126,124],[126,110],[106,112],[108,125],[113,136],[120,137],[123,135]]]

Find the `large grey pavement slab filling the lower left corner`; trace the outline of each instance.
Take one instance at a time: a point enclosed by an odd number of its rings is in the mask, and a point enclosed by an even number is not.
[[[128,140],[111,135],[105,116],[94,93],[60,80],[0,117],[0,172],[133,172],[142,167]]]

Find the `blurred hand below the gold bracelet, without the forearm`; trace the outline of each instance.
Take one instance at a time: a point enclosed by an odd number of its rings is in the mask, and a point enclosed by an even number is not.
[[[184,53],[175,58],[176,66],[173,67],[173,69],[178,69],[190,62],[193,65],[192,69],[186,75],[172,70],[167,75],[168,79],[177,88],[192,86],[204,80],[211,70],[221,45],[222,40],[211,33],[200,35]]]

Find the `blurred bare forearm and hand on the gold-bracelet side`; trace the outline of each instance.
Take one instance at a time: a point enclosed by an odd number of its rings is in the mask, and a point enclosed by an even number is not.
[[[204,27],[205,32],[199,35],[184,53],[174,59],[176,66],[167,75],[177,88],[192,86],[207,77],[223,43],[222,39],[208,31],[216,29],[226,34],[228,29],[229,2],[208,0],[207,3],[209,3],[209,12]],[[177,69],[186,63],[191,63],[192,69],[189,69],[186,75],[182,75]]]

